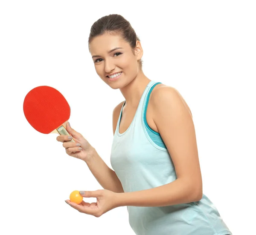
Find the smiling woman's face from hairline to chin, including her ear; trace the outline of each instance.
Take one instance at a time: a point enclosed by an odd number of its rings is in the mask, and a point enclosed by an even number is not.
[[[105,33],[93,38],[90,53],[99,77],[111,88],[120,89],[137,76],[140,68],[138,60],[142,57],[143,51],[139,41],[133,54],[130,44],[119,34]]]

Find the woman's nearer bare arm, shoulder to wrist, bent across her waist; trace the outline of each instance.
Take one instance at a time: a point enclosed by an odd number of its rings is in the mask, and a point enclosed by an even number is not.
[[[169,206],[201,200],[203,186],[191,111],[172,87],[152,92],[154,123],[166,143],[177,179],[166,185],[117,195],[118,206]]]

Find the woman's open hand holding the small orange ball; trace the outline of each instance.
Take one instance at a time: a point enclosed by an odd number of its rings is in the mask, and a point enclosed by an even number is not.
[[[80,191],[80,194],[84,198],[97,198],[97,202],[93,203],[82,201],[80,204],[76,204],[70,200],[65,201],[81,213],[100,217],[106,212],[118,207],[116,192],[107,189],[99,189],[96,191]]]

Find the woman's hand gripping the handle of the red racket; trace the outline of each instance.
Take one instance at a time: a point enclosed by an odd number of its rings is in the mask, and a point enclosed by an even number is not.
[[[67,123],[66,129],[71,137],[73,137],[73,140],[76,141],[76,143],[70,142],[69,135],[58,135],[56,139],[59,142],[63,142],[63,147],[66,149],[66,153],[74,158],[79,158],[84,161],[92,157],[94,148],[90,143],[79,132],[76,132],[71,128],[69,123]]]

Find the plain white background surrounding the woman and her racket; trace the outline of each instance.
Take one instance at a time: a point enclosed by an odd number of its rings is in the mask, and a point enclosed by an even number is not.
[[[124,98],[98,77],[87,44],[108,14],[121,14],[140,37],[145,75],[188,103],[204,194],[233,235],[255,234],[253,2],[1,0],[0,234],[134,234],[126,207],[96,218],[64,202],[73,190],[101,186],[56,134],[35,131],[23,114],[27,92],[55,87],[70,104],[71,126],[111,166],[112,111]]]

